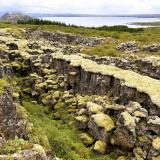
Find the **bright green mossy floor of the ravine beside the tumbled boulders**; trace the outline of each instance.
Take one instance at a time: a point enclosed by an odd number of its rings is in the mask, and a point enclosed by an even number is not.
[[[24,101],[29,120],[48,137],[49,143],[59,158],[63,160],[114,160],[111,155],[96,155],[92,147],[86,148],[79,138],[79,131],[74,127],[73,119],[66,107],[61,108],[61,120],[53,120],[53,114],[46,114],[46,107]]]

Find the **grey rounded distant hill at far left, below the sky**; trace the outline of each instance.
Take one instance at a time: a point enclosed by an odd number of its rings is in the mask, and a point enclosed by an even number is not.
[[[6,13],[0,17],[0,21],[11,22],[11,23],[16,23],[19,20],[28,21],[31,19],[33,19],[31,16],[28,16],[19,12]]]

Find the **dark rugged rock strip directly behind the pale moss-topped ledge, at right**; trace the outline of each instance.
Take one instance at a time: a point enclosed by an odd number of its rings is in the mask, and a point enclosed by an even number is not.
[[[139,74],[155,79],[160,79],[159,58],[120,58],[120,57],[98,57],[87,56],[98,64],[117,66],[122,69],[133,70]]]

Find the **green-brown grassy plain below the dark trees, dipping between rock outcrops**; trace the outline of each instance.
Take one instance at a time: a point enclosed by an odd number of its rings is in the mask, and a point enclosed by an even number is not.
[[[41,29],[50,32],[65,32],[72,34],[79,34],[85,37],[102,37],[107,38],[107,40],[96,47],[86,47],[82,50],[83,53],[89,55],[99,55],[99,56],[126,56],[121,52],[116,50],[116,46],[121,42],[136,41],[139,43],[140,47],[146,44],[153,44],[160,42],[160,27],[144,28],[140,32],[126,32],[126,31],[107,31],[84,27],[74,27],[74,26],[63,26],[63,25],[29,25],[29,24],[5,24],[0,23],[0,28],[12,28],[14,30],[18,28],[32,28]],[[160,53],[152,53],[154,55],[159,55]],[[151,53],[142,52],[138,56],[150,56]],[[127,55],[128,56],[128,55]]]

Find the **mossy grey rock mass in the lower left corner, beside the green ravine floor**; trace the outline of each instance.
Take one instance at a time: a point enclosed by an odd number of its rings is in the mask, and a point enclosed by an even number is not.
[[[1,79],[0,159],[47,160],[46,150],[40,144],[34,144],[33,124],[28,122],[25,109],[15,103],[18,97],[18,93],[14,93],[9,84]]]

